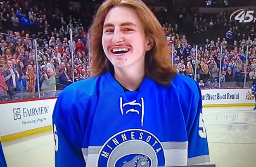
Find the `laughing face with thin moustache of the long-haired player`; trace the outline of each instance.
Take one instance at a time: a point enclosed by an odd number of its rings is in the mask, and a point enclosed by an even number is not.
[[[142,23],[133,9],[114,7],[108,12],[102,45],[115,69],[131,65],[144,67],[145,53],[150,49],[148,43]]]

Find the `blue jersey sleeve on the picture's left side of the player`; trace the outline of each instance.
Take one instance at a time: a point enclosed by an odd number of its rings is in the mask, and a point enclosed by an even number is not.
[[[76,100],[72,90],[65,89],[59,95],[52,114],[55,167],[85,167],[81,150],[83,135]]]

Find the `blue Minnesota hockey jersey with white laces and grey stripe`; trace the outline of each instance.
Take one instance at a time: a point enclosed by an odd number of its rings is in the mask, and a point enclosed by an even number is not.
[[[59,95],[52,115],[56,167],[172,166],[209,162],[198,84],[145,78],[124,91],[106,72]]]

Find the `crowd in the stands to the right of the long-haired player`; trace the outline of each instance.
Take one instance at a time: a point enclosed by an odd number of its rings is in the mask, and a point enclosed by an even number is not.
[[[185,35],[180,37],[177,25],[163,25],[166,38],[175,47],[173,63],[177,72],[196,78],[201,88],[243,87],[245,74],[247,82],[256,79],[255,23],[230,21],[230,11],[219,15],[193,12],[179,15],[181,22],[186,22],[190,28],[194,27],[190,31],[190,42]],[[192,16],[194,19],[190,22]],[[196,60],[194,41],[199,39],[204,39],[204,44],[198,44]],[[221,46],[223,50],[220,60]],[[194,76],[195,70],[197,76]]]

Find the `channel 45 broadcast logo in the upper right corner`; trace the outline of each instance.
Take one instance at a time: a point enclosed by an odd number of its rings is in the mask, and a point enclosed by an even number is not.
[[[255,23],[256,16],[254,14],[254,10],[239,9],[230,15],[230,21],[232,20],[238,21],[239,23]]]

